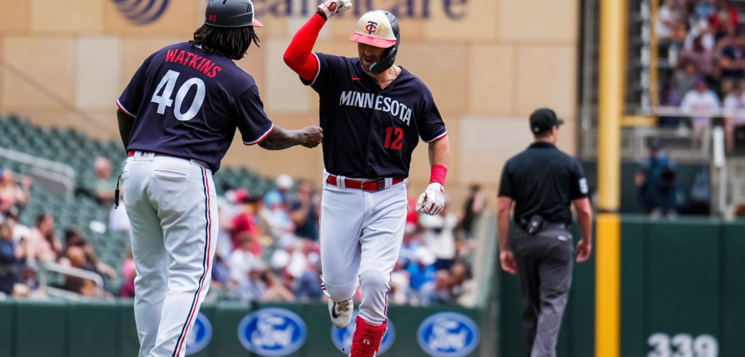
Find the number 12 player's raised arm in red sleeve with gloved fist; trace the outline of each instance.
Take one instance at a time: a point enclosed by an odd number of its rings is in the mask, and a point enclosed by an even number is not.
[[[318,73],[318,60],[312,53],[323,25],[329,17],[343,13],[352,7],[349,0],[329,0],[318,5],[318,10],[305,25],[297,31],[285,51],[285,63],[303,80],[314,80]]]

